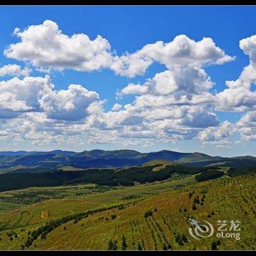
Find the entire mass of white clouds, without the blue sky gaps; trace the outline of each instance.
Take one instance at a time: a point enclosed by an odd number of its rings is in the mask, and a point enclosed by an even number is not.
[[[226,89],[214,93],[215,83],[206,72],[211,65],[234,61],[213,39],[199,41],[184,34],[170,42],[144,45],[135,53],[118,56],[108,39],[86,34],[64,34],[59,26],[42,24],[15,29],[18,42],[4,56],[24,61],[0,67],[0,137],[31,143],[113,143],[151,146],[155,141],[176,143],[197,140],[202,146],[229,147],[238,132],[241,140],[255,140],[256,133],[256,36],[241,39],[239,46],[249,56],[237,80],[227,80]],[[116,91],[117,102],[105,110],[106,99],[85,85],[70,84],[56,90],[50,79],[30,76],[31,67],[41,72],[93,72],[110,69],[116,75],[144,75],[154,63],[165,71],[142,83],[128,83]],[[21,78],[23,77],[23,78]],[[119,99],[132,97],[124,105]],[[129,98],[130,99],[130,98]],[[219,121],[217,111],[244,113],[235,124]],[[95,136],[97,134],[97,136]]]

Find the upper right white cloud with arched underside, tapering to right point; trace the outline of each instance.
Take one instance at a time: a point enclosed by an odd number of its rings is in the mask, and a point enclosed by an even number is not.
[[[206,64],[223,64],[233,60],[234,57],[225,54],[211,38],[204,37],[195,42],[181,34],[171,42],[158,41],[143,46],[135,53],[116,56],[111,68],[118,75],[132,78],[143,75],[154,61],[165,64],[167,69],[172,70],[177,66],[203,67]]]

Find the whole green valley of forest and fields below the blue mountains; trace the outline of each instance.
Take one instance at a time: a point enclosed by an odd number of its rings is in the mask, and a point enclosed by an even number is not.
[[[187,155],[187,165],[164,154],[135,166],[0,174],[0,249],[255,249],[256,167],[202,165],[204,154]],[[197,240],[190,219],[240,220],[241,240]]]

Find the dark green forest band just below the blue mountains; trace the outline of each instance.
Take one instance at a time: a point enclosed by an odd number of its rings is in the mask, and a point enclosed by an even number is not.
[[[228,176],[238,176],[252,173],[255,167],[230,168]],[[197,174],[197,181],[206,181],[224,175],[219,167],[189,167],[185,165],[166,165],[158,171],[154,166],[138,166],[128,168],[88,169],[80,171],[59,171],[51,173],[4,173],[0,175],[0,191],[24,189],[26,187],[53,187],[71,184],[97,184],[99,186],[133,186],[134,182],[141,184],[164,181],[174,173]],[[200,173],[200,174],[199,174]]]

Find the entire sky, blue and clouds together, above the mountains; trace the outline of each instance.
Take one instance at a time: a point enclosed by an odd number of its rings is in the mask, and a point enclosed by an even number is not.
[[[256,156],[256,7],[0,7],[0,151]]]

